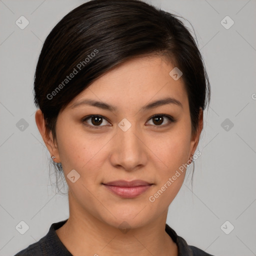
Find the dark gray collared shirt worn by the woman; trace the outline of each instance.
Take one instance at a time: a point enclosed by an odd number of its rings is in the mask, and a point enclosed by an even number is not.
[[[73,256],[57,236],[56,229],[61,227],[67,219],[52,223],[48,233],[39,241],[30,244],[25,249],[19,251],[14,256]],[[191,245],[178,236],[176,232],[167,224],[165,231],[171,239],[177,244],[178,256],[213,256],[205,251]]]

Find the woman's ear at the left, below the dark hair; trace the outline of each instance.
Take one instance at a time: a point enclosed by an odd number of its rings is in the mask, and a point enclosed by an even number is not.
[[[54,159],[55,162],[60,162],[57,145],[53,141],[52,132],[45,126],[45,120],[41,109],[38,109],[35,112],[35,122],[50,155],[56,157]]]

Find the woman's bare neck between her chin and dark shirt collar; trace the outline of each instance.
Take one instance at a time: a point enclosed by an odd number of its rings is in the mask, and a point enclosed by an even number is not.
[[[75,256],[177,256],[176,243],[165,232],[168,209],[147,225],[121,229],[77,207],[69,198],[69,218],[56,230],[59,239]]]

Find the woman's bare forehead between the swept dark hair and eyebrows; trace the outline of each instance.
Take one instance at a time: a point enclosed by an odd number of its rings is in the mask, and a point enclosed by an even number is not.
[[[127,108],[172,97],[185,107],[188,102],[183,81],[170,75],[174,67],[160,56],[131,58],[97,78],[69,106],[89,98]]]

